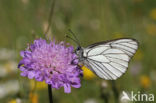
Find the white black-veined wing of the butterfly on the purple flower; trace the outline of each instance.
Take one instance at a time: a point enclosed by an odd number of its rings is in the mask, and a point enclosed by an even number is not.
[[[137,48],[138,42],[127,38],[92,44],[84,48],[84,65],[100,78],[116,80],[127,70]]]

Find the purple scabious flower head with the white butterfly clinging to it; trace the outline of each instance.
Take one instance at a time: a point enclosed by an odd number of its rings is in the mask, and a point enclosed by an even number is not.
[[[22,60],[18,68],[21,76],[45,81],[52,88],[64,87],[65,93],[71,92],[71,87],[80,88],[78,59],[73,46],[55,41],[37,39],[25,51],[21,51]]]

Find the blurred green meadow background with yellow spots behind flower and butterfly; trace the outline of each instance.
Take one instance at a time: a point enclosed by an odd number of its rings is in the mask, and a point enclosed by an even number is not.
[[[47,85],[19,75],[19,52],[44,37],[52,0],[0,0],[0,103],[48,103]],[[121,103],[122,91],[156,94],[155,0],[56,0],[48,36],[66,41],[68,29],[82,46],[130,37],[139,49],[128,71],[116,81],[84,68],[80,89],[53,90],[54,103]],[[142,102],[140,102],[142,103]]]

